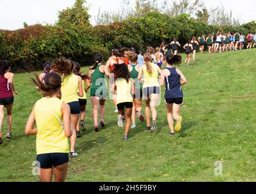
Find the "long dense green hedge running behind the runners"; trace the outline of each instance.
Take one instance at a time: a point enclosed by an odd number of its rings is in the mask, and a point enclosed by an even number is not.
[[[66,20],[64,20],[67,22]],[[110,50],[120,47],[134,47],[145,50],[151,45],[157,47],[161,41],[177,38],[183,45],[192,36],[207,35],[217,31],[244,34],[256,31],[256,23],[241,26],[213,26],[180,15],[175,18],[158,12],[147,13],[141,18],[128,18],[123,22],[92,27],[87,22],[73,25],[40,24],[21,30],[0,30],[0,59],[13,64],[15,72],[39,70],[45,61],[59,56],[73,59],[82,65],[91,65],[93,56],[101,52],[106,60]]]

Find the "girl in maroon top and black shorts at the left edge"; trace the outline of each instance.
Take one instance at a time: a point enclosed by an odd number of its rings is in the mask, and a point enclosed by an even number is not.
[[[4,107],[7,110],[7,139],[12,139],[12,107],[13,92],[18,95],[15,90],[13,78],[14,74],[10,72],[11,66],[8,61],[0,60],[0,145],[2,144],[2,122],[4,120]]]

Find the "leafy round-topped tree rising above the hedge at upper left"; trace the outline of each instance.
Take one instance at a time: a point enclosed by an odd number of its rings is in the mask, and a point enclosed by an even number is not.
[[[76,0],[71,8],[59,12],[58,25],[90,25],[89,6],[85,6],[86,0]]]

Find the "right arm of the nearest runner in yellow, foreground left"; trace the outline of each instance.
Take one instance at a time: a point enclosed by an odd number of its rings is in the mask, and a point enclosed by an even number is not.
[[[67,138],[70,138],[72,136],[72,130],[70,129],[70,107],[66,103],[62,103],[61,105],[61,113],[63,115],[63,127],[64,127],[64,133]]]

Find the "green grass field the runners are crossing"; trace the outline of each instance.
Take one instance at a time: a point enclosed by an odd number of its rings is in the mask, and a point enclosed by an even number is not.
[[[183,131],[175,137],[169,135],[164,89],[157,133],[147,132],[137,119],[128,141],[117,127],[112,101],[106,102],[106,129],[93,132],[89,101],[87,131],[77,141],[79,156],[70,161],[67,181],[256,181],[255,53],[197,53],[190,67],[181,65],[188,83],[183,87]],[[4,138],[0,146],[0,181],[39,181],[32,175],[36,136],[24,135],[30,110],[41,98],[30,84],[32,76],[15,77],[14,138]],[[7,132],[5,121],[2,131]],[[216,161],[223,162],[223,176],[214,175]]]

